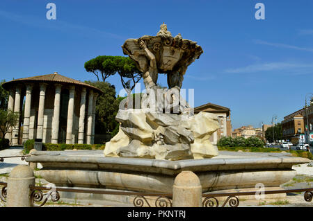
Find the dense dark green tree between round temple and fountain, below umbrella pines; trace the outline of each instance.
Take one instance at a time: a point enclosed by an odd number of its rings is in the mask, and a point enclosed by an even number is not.
[[[101,81],[86,81],[86,83],[101,89],[103,92],[98,96],[96,103],[95,133],[107,134],[112,132],[118,125],[115,116],[118,114],[120,104],[120,100],[115,98],[115,87],[108,82]]]

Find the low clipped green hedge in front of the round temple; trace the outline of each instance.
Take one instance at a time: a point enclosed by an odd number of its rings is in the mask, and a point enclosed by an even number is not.
[[[24,143],[24,153],[27,154],[35,145],[34,140]],[[66,144],[66,143],[42,143],[42,150],[61,151],[61,150],[104,150],[104,144]]]

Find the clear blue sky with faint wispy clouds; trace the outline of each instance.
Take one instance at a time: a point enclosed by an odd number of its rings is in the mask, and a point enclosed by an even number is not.
[[[56,20],[46,5],[56,3]],[[265,20],[255,19],[264,3]],[[0,77],[58,73],[96,80],[83,68],[97,55],[123,55],[127,38],[192,39],[204,53],[188,67],[183,87],[195,106],[230,107],[232,125],[278,122],[313,93],[313,1],[0,1]],[[118,76],[108,80],[120,91]],[[166,76],[160,76],[166,85]]]

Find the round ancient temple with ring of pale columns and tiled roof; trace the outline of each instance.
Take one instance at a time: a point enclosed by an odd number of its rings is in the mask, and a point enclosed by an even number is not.
[[[8,110],[19,123],[6,134],[11,145],[28,139],[43,143],[94,143],[95,105],[102,93],[79,80],[58,73],[5,82]]]

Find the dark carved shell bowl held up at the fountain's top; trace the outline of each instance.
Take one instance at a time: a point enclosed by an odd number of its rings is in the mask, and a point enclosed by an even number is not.
[[[188,67],[203,53],[197,42],[176,37],[144,35],[138,39],[127,39],[122,45],[123,53],[129,55],[143,73],[147,71],[147,56],[139,42],[143,40],[147,48],[154,54],[159,73],[168,73],[181,67]]]

